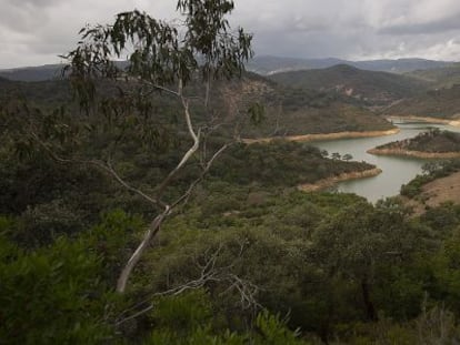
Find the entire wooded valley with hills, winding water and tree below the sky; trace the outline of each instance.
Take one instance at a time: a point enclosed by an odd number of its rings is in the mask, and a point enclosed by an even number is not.
[[[223,2],[179,2],[184,37],[87,27],[63,79],[0,71],[0,342],[457,342],[456,64],[248,72],[251,35],[207,22]]]

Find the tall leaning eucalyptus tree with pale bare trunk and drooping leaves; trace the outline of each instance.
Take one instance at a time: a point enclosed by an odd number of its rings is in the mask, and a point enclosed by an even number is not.
[[[87,26],[77,48],[63,57],[69,61],[64,74],[82,114],[14,109],[27,115],[26,123],[17,125],[18,142],[26,151],[38,145],[58,162],[97,168],[151,205],[156,216],[119,276],[120,293],[163,221],[189,199],[214,160],[238,141],[246,115],[252,113],[256,121],[261,116],[258,106],[246,113],[233,106],[233,113],[226,114],[222,104],[212,109],[210,103],[212,81],[241,75],[243,62],[252,55],[252,37],[242,29],[230,30],[227,16],[232,9],[232,0],[179,0],[180,24],[134,10],[117,14],[112,24]],[[127,61],[120,61],[124,58]],[[166,99],[163,111],[158,111],[156,104]],[[223,100],[237,103],[230,97]],[[176,119],[177,109],[182,119]],[[219,145],[210,143],[217,131],[219,138],[226,138]],[[117,166],[117,149],[128,140],[144,145],[152,155],[188,146],[179,162],[146,191],[129,182]],[[91,150],[81,149],[82,142],[92,142]],[[99,150],[94,152],[94,148]],[[151,161],[156,162],[154,156]],[[181,193],[167,195],[174,179],[197,165],[199,172]]]

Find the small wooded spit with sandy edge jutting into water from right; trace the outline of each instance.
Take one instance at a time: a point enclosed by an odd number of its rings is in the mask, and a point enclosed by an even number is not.
[[[460,133],[432,129],[416,138],[390,142],[368,150],[368,153],[421,159],[460,158]]]

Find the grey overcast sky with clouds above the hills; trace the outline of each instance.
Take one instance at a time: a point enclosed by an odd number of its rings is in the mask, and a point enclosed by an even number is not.
[[[259,55],[460,60],[460,0],[234,0]],[[0,68],[59,62],[86,23],[134,8],[173,19],[176,0],[0,0]]]

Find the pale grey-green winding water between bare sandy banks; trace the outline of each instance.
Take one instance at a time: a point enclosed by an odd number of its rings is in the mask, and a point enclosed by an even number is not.
[[[393,196],[399,194],[402,184],[411,181],[417,174],[421,173],[422,165],[427,160],[416,158],[373,155],[366,151],[378,145],[413,138],[421,132],[428,131],[430,128],[439,128],[452,132],[460,132],[459,128],[433,124],[433,123],[396,123],[400,128],[400,132],[393,135],[378,138],[359,138],[359,139],[339,139],[330,141],[317,141],[311,144],[327,150],[329,154],[339,152],[341,155],[350,153],[354,161],[366,161],[377,165],[382,173],[367,179],[350,180],[341,182],[337,185],[337,190],[343,193],[356,193],[367,197],[370,202],[379,199]]]

